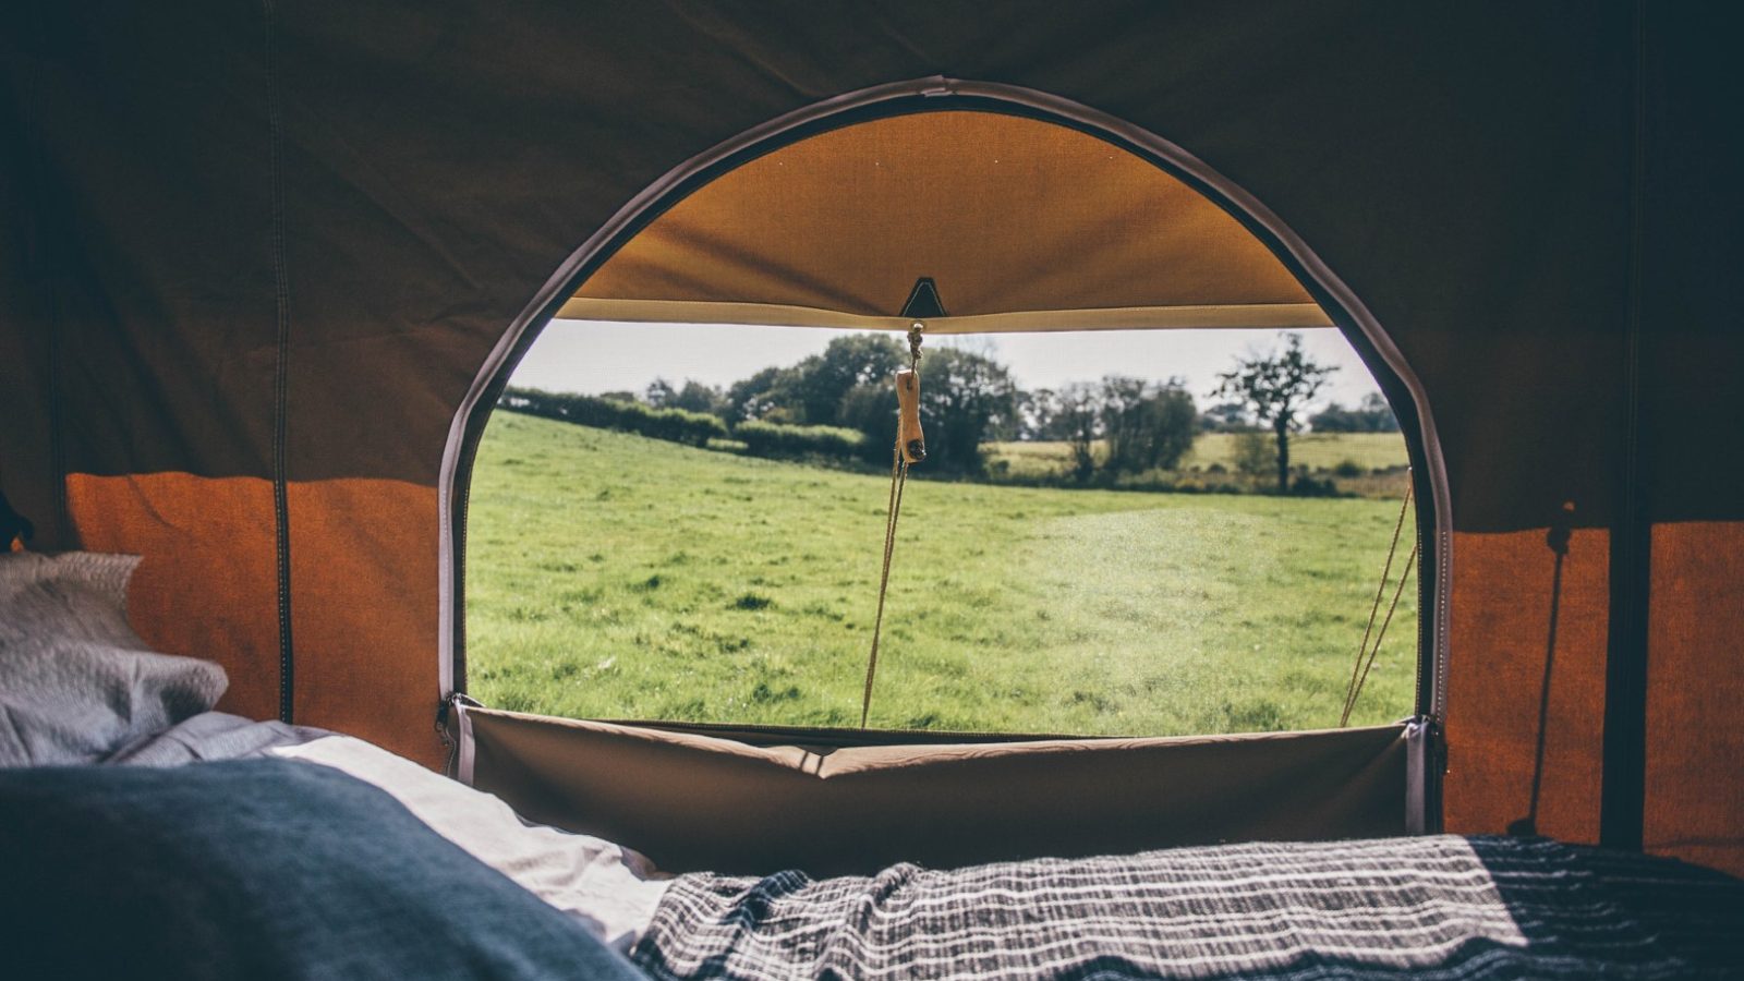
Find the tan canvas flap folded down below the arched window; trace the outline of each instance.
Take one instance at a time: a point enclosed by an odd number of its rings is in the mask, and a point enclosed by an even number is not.
[[[870,873],[1404,833],[1404,726],[1191,738],[752,745],[466,709],[469,779],[666,871]],[[755,737],[753,731],[736,733]],[[862,733],[844,733],[858,742]]]

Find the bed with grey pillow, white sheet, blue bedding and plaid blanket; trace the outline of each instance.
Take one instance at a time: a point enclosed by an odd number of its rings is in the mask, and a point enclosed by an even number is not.
[[[1543,838],[664,875],[361,740],[209,710],[221,672],[126,628],[127,573],[0,557],[19,976],[1744,974],[1744,883]]]

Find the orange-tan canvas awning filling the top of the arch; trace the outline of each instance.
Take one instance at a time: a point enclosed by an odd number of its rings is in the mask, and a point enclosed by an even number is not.
[[[1311,302],[1235,218],[1139,157],[982,112],[877,119],[739,166],[637,234],[577,297],[896,316]]]

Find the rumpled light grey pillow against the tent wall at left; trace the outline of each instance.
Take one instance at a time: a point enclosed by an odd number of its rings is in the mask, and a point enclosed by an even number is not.
[[[0,553],[0,766],[96,763],[204,712],[223,669],[127,625],[138,555]]]

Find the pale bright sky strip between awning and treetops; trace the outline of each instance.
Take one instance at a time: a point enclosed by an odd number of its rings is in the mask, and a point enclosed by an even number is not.
[[[546,391],[642,391],[656,377],[729,386],[769,365],[816,354],[832,337],[853,333],[814,326],[698,326],[555,319],[514,370],[513,384]],[[1301,330],[1303,347],[1338,365],[1318,403],[1355,405],[1380,391],[1369,370],[1334,328]],[[1235,358],[1278,344],[1268,330],[1090,330],[1074,333],[980,333],[931,337],[928,346],[964,346],[991,354],[1025,389],[1059,388],[1102,375],[1181,375],[1200,407],[1217,372]],[[921,363],[926,374],[926,363]]]

